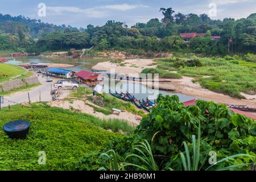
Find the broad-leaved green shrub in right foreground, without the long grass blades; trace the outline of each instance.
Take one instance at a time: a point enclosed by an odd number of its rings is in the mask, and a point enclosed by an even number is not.
[[[138,165],[129,166],[126,168],[127,170],[146,168],[145,161],[154,163],[158,169],[181,170],[184,163],[179,158],[180,151],[184,150],[184,141],[195,140],[195,137],[191,137],[193,134],[198,134],[200,136],[198,138],[201,138],[197,141],[197,146],[200,141],[200,152],[197,154],[200,155],[198,165],[201,170],[210,167],[205,162],[205,156],[208,156],[209,151],[215,151],[218,159],[237,156],[236,159],[218,163],[214,169],[237,164],[239,164],[237,169],[251,169],[245,163],[255,163],[253,156],[256,156],[256,123],[254,119],[234,114],[225,105],[218,105],[214,102],[199,100],[195,106],[184,107],[177,96],[163,97],[162,95],[158,97],[157,101],[158,105],[142,119],[141,125],[130,137],[117,139],[110,144],[112,150],[118,154],[119,162],[125,161]],[[148,151],[147,154],[144,153],[145,155],[139,150],[137,152],[133,150],[136,143],[142,139],[146,139],[150,143],[150,147],[144,148]],[[187,142],[186,145],[188,147],[187,155],[189,151],[192,151],[192,144]],[[127,157],[131,156],[130,154],[134,154],[134,157]],[[141,156],[141,158],[135,156]],[[154,156],[154,160],[152,160],[152,156]],[[88,156],[81,160],[79,169],[86,169],[82,166],[86,166],[87,161],[90,161]],[[109,166],[109,164],[105,165]]]

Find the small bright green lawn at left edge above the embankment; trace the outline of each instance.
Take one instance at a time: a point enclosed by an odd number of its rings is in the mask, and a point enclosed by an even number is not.
[[[15,65],[0,63],[0,82],[8,81],[10,78],[26,73],[26,70]],[[32,73],[28,72],[26,75],[22,75],[17,78],[24,78],[31,76]]]

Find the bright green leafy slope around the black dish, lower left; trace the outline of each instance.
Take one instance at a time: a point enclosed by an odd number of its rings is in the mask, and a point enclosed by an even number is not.
[[[0,170],[72,170],[85,154],[104,148],[120,134],[92,125],[97,118],[56,107],[16,105],[0,111],[0,128],[17,119],[31,122],[26,140],[13,140],[0,130]],[[98,121],[99,122],[99,121]],[[46,152],[46,165],[38,164],[38,152]]]

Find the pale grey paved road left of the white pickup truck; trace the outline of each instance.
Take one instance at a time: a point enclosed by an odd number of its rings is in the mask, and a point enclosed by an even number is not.
[[[5,107],[8,105],[15,105],[14,102],[19,104],[23,102],[28,102],[28,93],[30,93],[31,102],[40,101],[39,100],[40,92],[41,92],[41,101],[51,101],[52,96],[50,93],[51,93],[51,84],[53,85],[53,82],[46,82],[46,77],[42,77],[42,76],[39,76],[38,79],[42,85],[31,90],[14,93],[14,94],[11,94],[10,96],[4,96],[3,104],[1,104],[1,107]],[[7,100],[10,100],[13,102],[10,102]]]

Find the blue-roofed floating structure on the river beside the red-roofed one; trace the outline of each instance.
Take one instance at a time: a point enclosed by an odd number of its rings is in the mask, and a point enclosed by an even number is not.
[[[73,78],[75,77],[75,73],[72,70],[69,69],[60,69],[60,68],[48,68],[46,69],[47,75],[49,76],[55,76],[60,78]]]

